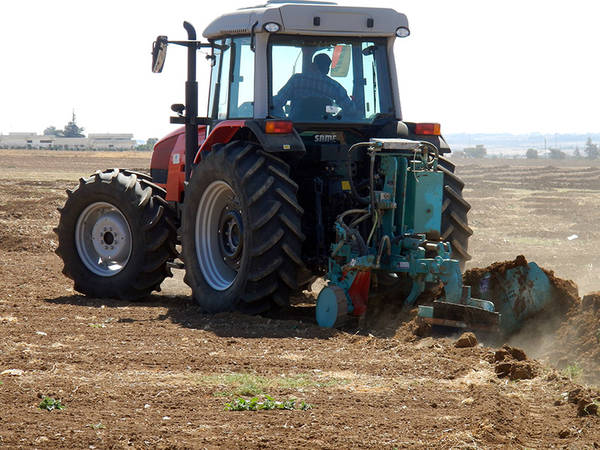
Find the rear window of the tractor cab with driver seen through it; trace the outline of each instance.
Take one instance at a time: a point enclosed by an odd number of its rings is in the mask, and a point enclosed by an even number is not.
[[[271,35],[272,117],[372,122],[393,115],[385,39]]]

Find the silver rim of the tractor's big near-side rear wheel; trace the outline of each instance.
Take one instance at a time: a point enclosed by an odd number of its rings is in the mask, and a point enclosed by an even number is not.
[[[224,181],[212,182],[196,212],[196,257],[206,282],[217,291],[228,289],[240,268],[244,228],[235,192]]]

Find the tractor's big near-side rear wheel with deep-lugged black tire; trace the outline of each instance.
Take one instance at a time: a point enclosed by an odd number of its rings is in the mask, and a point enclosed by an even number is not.
[[[184,281],[209,313],[289,304],[302,265],[302,208],[289,166],[255,143],[213,149],[185,189]]]

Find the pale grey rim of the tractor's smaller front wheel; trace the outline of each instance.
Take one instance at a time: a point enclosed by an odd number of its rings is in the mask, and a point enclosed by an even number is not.
[[[110,203],[92,203],[77,219],[75,246],[81,261],[92,273],[114,276],[125,268],[131,256],[129,223]]]

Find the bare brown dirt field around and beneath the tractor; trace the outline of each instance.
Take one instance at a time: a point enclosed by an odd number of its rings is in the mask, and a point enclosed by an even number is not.
[[[54,254],[65,188],[149,161],[0,150],[0,446],[600,447],[600,417],[578,414],[599,399],[581,384],[600,371],[597,297],[566,325],[540,327],[541,340],[515,337],[535,376],[511,381],[497,373],[510,352],[418,337],[412,321],[392,333],[321,329],[310,293],[272,317],[202,315],[180,273],[142,302],[78,295]],[[581,295],[600,290],[600,163],[456,162],[473,206],[469,267],[523,254]],[[312,409],[225,410],[264,394]],[[66,408],[40,409],[44,396]]]

